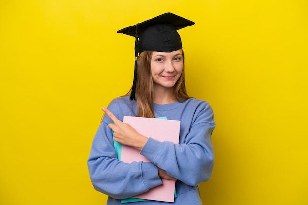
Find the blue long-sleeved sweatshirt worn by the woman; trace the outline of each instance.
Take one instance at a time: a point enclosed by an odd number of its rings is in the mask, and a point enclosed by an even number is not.
[[[121,121],[123,116],[137,116],[137,103],[129,96],[114,99],[108,109]],[[170,104],[153,103],[155,117],[180,120],[179,144],[149,138],[140,154],[151,162],[118,161],[113,145],[112,120],[105,115],[94,137],[87,161],[94,188],[109,196],[107,205],[123,205],[129,198],[161,185],[158,167],[176,181],[174,203],[159,201],[132,202],[127,205],[201,205],[198,184],[210,179],[214,151],[211,140],[215,128],[213,110],[202,100]]]

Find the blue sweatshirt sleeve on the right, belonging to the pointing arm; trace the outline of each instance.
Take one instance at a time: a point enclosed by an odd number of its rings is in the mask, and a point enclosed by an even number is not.
[[[185,116],[190,124],[181,122],[180,144],[149,138],[141,154],[168,175],[187,185],[197,186],[212,175],[214,150],[211,135],[215,123],[213,110],[206,102],[190,113],[190,116]]]

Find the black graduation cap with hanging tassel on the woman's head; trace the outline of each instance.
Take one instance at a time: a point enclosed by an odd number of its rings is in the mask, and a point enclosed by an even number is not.
[[[135,71],[130,100],[135,99],[138,53],[143,51],[172,52],[181,49],[181,37],[177,30],[194,24],[173,13],[165,13],[117,32],[135,37]]]

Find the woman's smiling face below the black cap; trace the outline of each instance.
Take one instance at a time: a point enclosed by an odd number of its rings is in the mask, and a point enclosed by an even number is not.
[[[173,52],[153,52],[151,75],[155,87],[172,88],[183,69],[182,49]]]

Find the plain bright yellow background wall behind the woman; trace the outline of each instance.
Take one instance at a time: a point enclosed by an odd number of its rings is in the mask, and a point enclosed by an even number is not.
[[[187,90],[215,111],[204,204],[308,205],[307,0],[1,0],[1,205],[105,204],[86,160],[132,83],[116,31],[165,12],[196,22]]]

